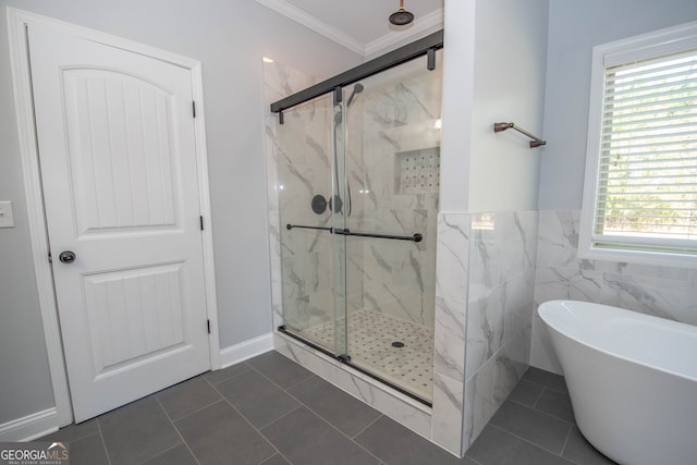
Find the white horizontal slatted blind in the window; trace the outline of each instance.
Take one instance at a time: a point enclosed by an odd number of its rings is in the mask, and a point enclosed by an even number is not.
[[[697,254],[697,49],[604,70],[592,247]]]

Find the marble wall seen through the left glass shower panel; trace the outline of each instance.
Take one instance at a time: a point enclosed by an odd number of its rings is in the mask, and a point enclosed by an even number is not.
[[[284,229],[289,223],[331,225],[329,211],[317,215],[310,208],[315,195],[331,192],[330,121],[331,100],[325,98],[286,111],[276,129],[283,305],[285,322],[296,329],[332,318],[331,235]]]

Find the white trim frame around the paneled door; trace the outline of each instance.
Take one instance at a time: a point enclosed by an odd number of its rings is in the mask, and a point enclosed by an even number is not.
[[[56,400],[58,426],[70,425],[73,421],[73,409],[70,400],[65,359],[58,321],[58,307],[53,292],[51,265],[48,261],[48,234],[44,200],[41,196],[41,180],[36,146],[36,131],[34,120],[34,105],[32,95],[32,79],[29,73],[26,26],[50,28],[51,30],[70,34],[87,40],[118,47],[136,52],[187,69],[192,73],[192,91],[196,101],[196,118],[194,131],[196,137],[196,162],[198,172],[198,197],[200,212],[205,218],[206,228],[203,231],[201,243],[204,253],[204,273],[206,280],[206,309],[210,320],[211,333],[208,336],[211,369],[220,368],[220,343],[218,334],[218,310],[216,305],[216,281],[213,267],[212,233],[210,228],[210,197],[208,188],[208,163],[206,152],[206,133],[204,120],[204,91],[201,65],[197,60],[170,53],[143,44],[126,40],[109,34],[103,34],[39,14],[7,7],[8,30],[10,39],[10,60],[14,82],[14,101],[20,135],[20,156],[24,178],[24,192],[32,240],[34,270],[38,289],[39,308],[44,322],[44,338]]]

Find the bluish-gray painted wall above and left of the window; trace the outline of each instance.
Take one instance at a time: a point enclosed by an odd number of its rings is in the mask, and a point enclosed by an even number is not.
[[[579,209],[586,166],[591,48],[697,20],[695,0],[552,0],[540,210]]]

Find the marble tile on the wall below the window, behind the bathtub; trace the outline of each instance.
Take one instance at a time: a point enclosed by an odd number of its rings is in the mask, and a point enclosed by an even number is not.
[[[579,223],[580,210],[540,211],[535,308],[572,298],[697,325],[697,270],[582,259]],[[560,372],[537,313],[534,328],[533,364]]]

